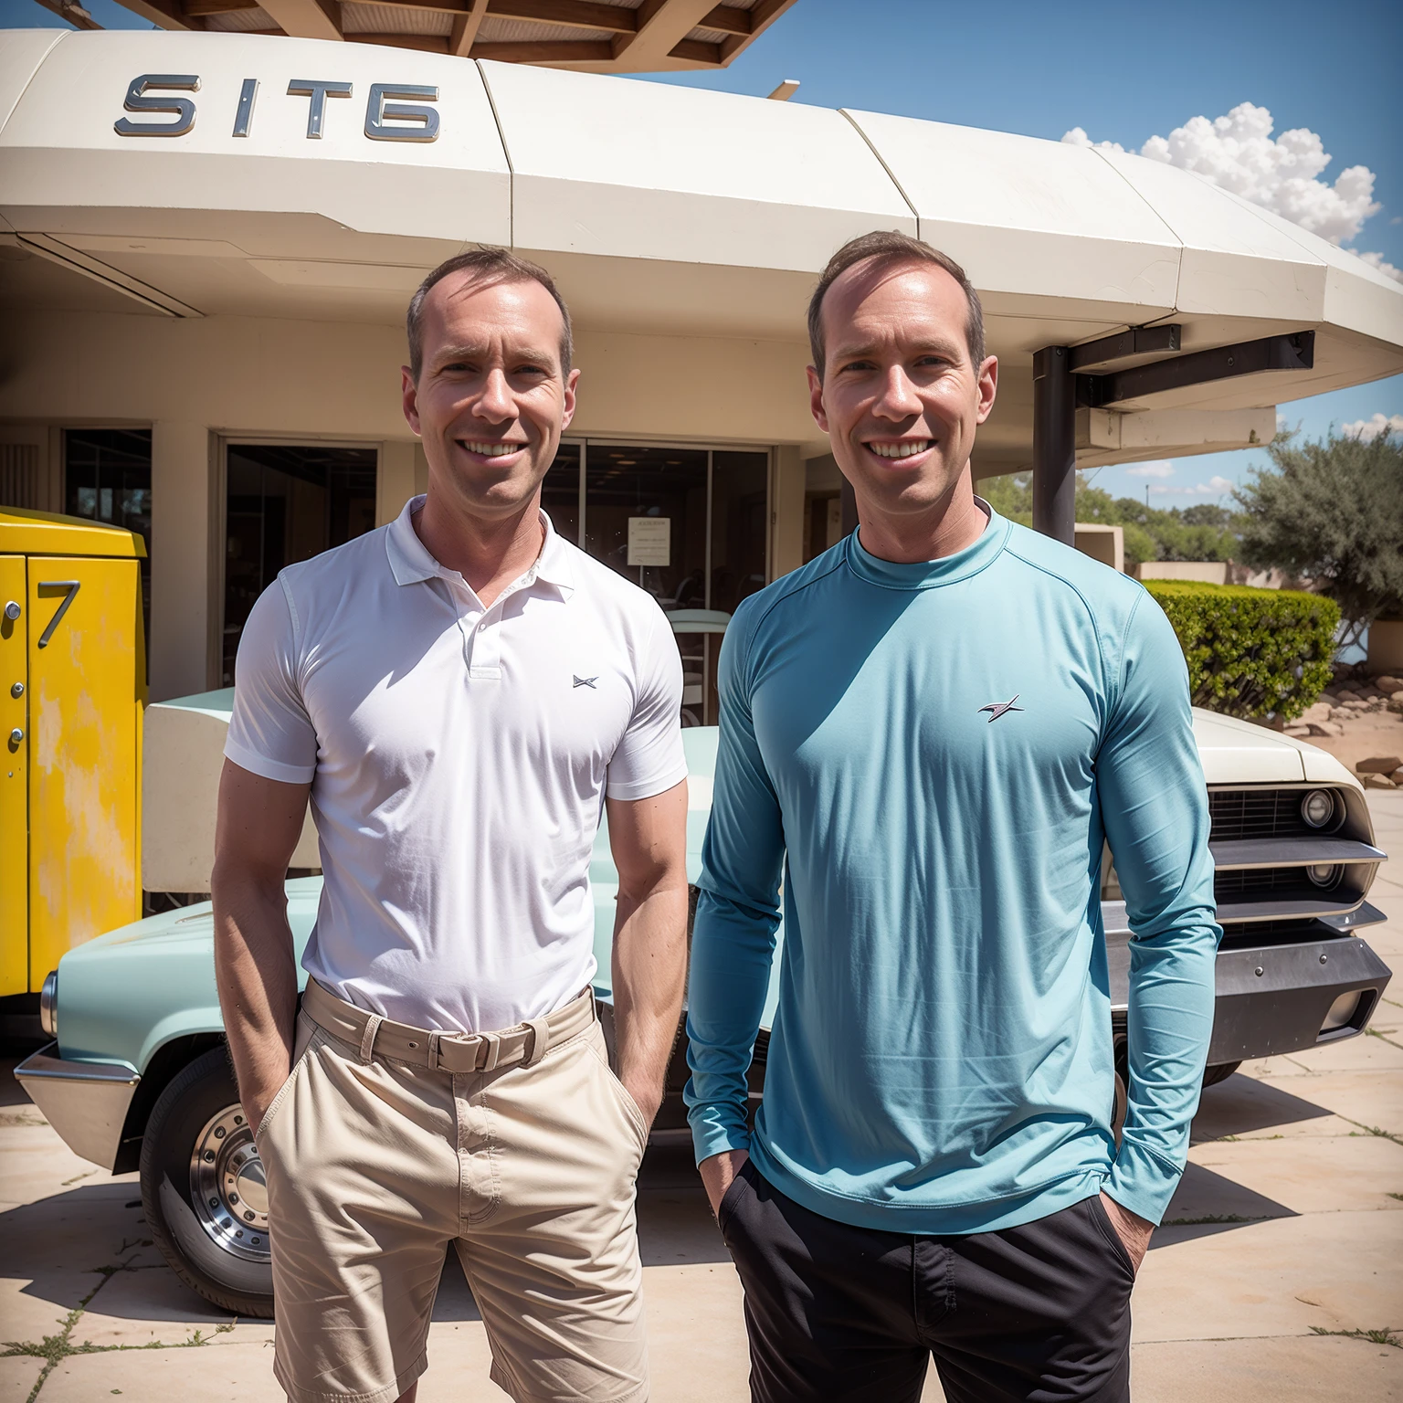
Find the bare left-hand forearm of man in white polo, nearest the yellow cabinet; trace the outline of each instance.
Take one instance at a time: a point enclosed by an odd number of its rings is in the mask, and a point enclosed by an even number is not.
[[[216,867],[215,979],[239,1094],[257,1131],[286,1080],[297,1017],[297,967],[282,882]]]

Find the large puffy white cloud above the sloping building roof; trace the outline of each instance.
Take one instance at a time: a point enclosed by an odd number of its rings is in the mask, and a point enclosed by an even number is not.
[[[1298,126],[1273,139],[1271,130],[1267,108],[1239,102],[1226,116],[1194,116],[1169,136],[1152,136],[1139,154],[1194,171],[1333,244],[1354,239],[1382,208],[1374,199],[1374,171],[1350,166],[1330,185],[1320,174],[1331,157],[1315,132]],[[1099,150],[1125,149],[1117,142],[1093,142],[1080,126],[1062,140]],[[1372,257],[1382,262],[1381,255]]]

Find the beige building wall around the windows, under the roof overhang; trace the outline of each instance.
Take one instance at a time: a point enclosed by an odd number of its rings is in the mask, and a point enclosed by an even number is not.
[[[8,330],[8,439],[42,446],[62,427],[152,427],[153,700],[216,685],[220,439],[377,445],[380,522],[424,490],[424,453],[400,407],[400,327],[46,311],[14,316]],[[824,443],[808,414],[801,342],[581,330],[575,345],[571,436],[779,448],[772,574],[801,563],[803,455]],[[53,452],[43,456],[51,478]]]

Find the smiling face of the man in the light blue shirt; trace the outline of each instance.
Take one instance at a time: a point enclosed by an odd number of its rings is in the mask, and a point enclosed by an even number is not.
[[[868,521],[932,516],[968,473],[998,361],[969,358],[960,283],[925,262],[854,264],[822,306],[825,366],[810,407]]]

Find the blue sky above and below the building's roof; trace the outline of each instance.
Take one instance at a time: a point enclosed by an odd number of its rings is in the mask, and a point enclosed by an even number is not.
[[[109,28],[147,28],[114,0],[90,0]],[[34,0],[0,0],[0,27],[62,27]],[[1337,0],[1179,0],[1162,6],[1005,0],[798,0],[731,67],[666,74],[732,93],[765,94],[798,79],[796,102],[868,108],[1059,139],[1080,126],[1092,140],[1138,150],[1194,116],[1240,102],[1268,108],[1274,136],[1316,132],[1331,156],[1320,180],[1345,167],[1374,173],[1382,206],[1347,246],[1403,268],[1403,4]],[[1282,418],[1308,436],[1403,415],[1403,376],[1296,400]],[[1174,460],[1172,476],[1103,469],[1099,487],[1156,505],[1216,501],[1186,491],[1240,481],[1261,452]]]

